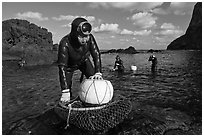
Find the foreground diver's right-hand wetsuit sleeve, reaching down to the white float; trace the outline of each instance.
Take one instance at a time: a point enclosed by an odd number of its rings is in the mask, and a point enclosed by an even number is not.
[[[92,34],[90,35],[90,39],[91,39],[90,53],[91,56],[93,57],[95,73],[101,73],[101,54]]]

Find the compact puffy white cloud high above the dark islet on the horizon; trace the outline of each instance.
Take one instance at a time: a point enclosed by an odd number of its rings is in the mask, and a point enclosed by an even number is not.
[[[153,17],[152,13],[139,12],[127,19],[132,20],[133,24],[140,28],[151,28],[156,26],[157,17]]]

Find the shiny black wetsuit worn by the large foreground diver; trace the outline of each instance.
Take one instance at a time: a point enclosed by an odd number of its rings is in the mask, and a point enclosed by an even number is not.
[[[89,40],[83,45],[77,40],[76,27],[79,23],[80,21],[72,25],[71,33],[63,37],[59,44],[58,67],[61,90],[71,90],[73,72],[77,69],[87,78],[101,72],[101,57],[94,36],[90,34]]]

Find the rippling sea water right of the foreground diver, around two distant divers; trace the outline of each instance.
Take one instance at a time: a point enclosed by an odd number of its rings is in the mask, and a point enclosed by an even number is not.
[[[115,92],[139,102],[149,102],[155,106],[168,104],[175,109],[201,116],[201,51],[154,53],[158,60],[155,73],[151,72],[151,62],[148,61],[152,53],[119,54],[125,73],[111,72],[109,70],[113,68],[116,55],[102,55],[104,77],[113,83]],[[131,65],[137,66],[136,73],[131,73]]]

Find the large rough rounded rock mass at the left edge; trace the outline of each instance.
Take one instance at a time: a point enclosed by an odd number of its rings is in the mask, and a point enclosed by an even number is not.
[[[26,20],[2,22],[2,55],[15,56],[26,65],[50,64],[56,58],[52,51],[52,33]]]

